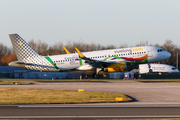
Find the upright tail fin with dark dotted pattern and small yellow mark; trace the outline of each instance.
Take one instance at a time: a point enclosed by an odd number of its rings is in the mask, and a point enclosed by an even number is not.
[[[18,34],[9,34],[18,61],[27,62],[29,58],[37,57],[39,54],[23,40]]]

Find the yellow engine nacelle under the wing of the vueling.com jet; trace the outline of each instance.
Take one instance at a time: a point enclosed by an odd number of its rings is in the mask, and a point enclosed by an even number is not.
[[[125,69],[126,69],[126,63],[120,62],[120,63],[108,65],[108,67],[104,68],[104,71],[105,72],[122,72]]]

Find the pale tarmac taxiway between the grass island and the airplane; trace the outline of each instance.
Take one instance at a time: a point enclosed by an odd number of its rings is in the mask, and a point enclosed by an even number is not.
[[[121,93],[139,102],[179,102],[180,82],[138,81],[77,81],[34,82],[32,85],[0,85],[1,88],[42,88],[56,90],[78,90]]]

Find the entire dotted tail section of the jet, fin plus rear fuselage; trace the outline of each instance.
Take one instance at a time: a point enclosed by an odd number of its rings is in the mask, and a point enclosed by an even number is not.
[[[46,57],[39,55],[33,50],[18,34],[9,34],[9,37],[18,59],[18,61],[11,62],[10,66],[51,72],[60,70],[53,62],[49,62]],[[47,58],[50,59],[49,57]]]

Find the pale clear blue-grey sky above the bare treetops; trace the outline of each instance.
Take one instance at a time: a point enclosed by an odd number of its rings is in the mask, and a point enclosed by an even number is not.
[[[180,0],[0,0],[0,43],[8,34],[49,45],[180,45]]]

